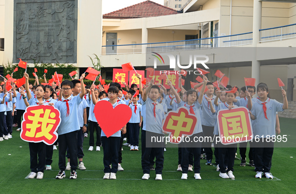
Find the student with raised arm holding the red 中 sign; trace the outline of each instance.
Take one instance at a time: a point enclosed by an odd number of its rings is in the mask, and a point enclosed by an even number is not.
[[[191,142],[194,142],[194,138],[202,136],[202,127],[201,127],[201,119],[200,119],[200,108],[202,106],[202,98],[203,92],[206,87],[207,77],[203,76],[203,85],[200,90],[199,96],[197,91],[194,89],[190,89],[187,91],[187,102],[184,104],[184,107],[189,109],[191,114],[195,114],[197,117],[197,123],[195,125],[193,134],[189,137]],[[179,107],[183,107],[183,103],[179,102]],[[201,179],[200,176],[200,151],[201,151],[201,142],[186,143],[181,142],[183,146],[181,147],[182,151],[182,159],[181,159],[181,167],[182,167],[182,176],[181,179],[187,179],[188,177],[188,167],[189,167],[189,153],[192,152],[194,155],[193,167],[194,167],[194,177],[195,179]]]

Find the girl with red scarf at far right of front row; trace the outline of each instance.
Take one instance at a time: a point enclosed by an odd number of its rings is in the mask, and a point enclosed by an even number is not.
[[[271,138],[275,138],[276,111],[287,109],[288,101],[284,89],[281,90],[283,103],[270,99],[267,97],[268,93],[268,87],[265,83],[257,85],[258,98],[252,104],[250,117],[255,120],[252,125],[253,136],[260,139],[258,142],[253,141],[255,177],[261,178],[264,173],[266,178],[272,179],[270,168],[274,142],[271,141]]]

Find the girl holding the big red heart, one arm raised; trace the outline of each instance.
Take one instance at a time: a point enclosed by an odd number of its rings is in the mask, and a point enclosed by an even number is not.
[[[98,102],[98,99],[95,97],[95,84],[92,84],[91,87],[92,92],[92,100],[93,104],[95,105]],[[113,108],[118,105],[118,88],[115,86],[111,86],[108,89],[108,98],[109,102],[112,104]],[[116,179],[116,172],[118,168],[118,149],[120,145],[120,138],[121,138],[121,130],[123,133],[126,131],[126,125],[122,129],[118,129],[110,137],[106,137],[104,131],[102,130],[102,143],[103,143],[103,150],[104,150],[104,179]],[[110,168],[110,163],[112,164],[112,168]]]

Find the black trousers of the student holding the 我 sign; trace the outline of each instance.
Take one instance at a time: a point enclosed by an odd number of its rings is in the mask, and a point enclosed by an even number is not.
[[[44,172],[46,148],[44,142],[29,142],[30,168],[32,172]]]

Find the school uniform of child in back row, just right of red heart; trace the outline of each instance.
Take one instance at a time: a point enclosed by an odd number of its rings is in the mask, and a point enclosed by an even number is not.
[[[129,120],[129,135],[130,144],[139,146],[139,132],[140,132],[140,112],[142,112],[142,105],[138,102],[136,104],[131,103],[130,108],[132,109],[132,117]]]

